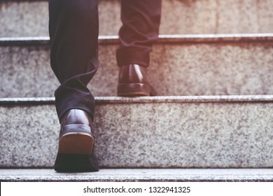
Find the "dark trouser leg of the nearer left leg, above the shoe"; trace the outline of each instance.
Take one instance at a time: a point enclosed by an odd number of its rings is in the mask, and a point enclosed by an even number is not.
[[[49,16],[50,63],[61,83],[55,91],[57,115],[82,109],[93,118],[87,83],[98,68],[97,0],[50,0]]]

